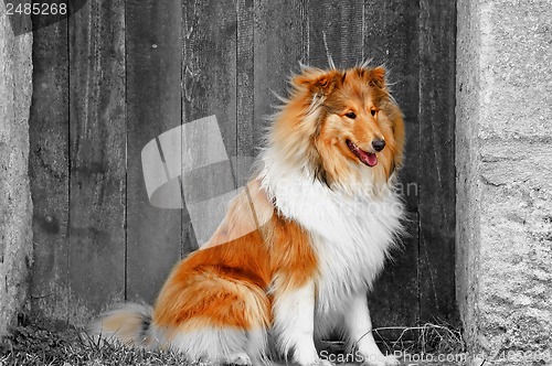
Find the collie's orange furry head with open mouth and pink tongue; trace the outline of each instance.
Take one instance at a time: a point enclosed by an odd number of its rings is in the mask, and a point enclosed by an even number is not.
[[[275,126],[289,153],[330,187],[389,181],[402,163],[404,125],[383,67],[305,68],[291,86]]]

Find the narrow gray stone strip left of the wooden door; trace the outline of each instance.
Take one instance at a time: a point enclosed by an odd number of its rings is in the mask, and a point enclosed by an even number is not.
[[[19,21],[30,29],[29,17]],[[13,35],[0,1],[0,335],[24,304],[32,251],[29,108],[32,33]]]

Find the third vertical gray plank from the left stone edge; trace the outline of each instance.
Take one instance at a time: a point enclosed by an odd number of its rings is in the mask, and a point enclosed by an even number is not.
[[[126,1],[127,300],[152,303],[181,256],[181,211],[152,206],[141,149],[181,123],[182,4]]]

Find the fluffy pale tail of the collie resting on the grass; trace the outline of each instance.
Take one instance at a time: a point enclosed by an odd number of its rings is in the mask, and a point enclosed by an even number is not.
[[[158,348],[161,344],[151,330],[152,312],[153,309],[149,305],[123,304],[92,323],[88,334],[95,343],[123,343],[149,349]]]

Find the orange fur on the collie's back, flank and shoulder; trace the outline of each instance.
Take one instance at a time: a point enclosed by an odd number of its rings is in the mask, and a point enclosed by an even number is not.
[[[230,216],[244,209],[233,208]],[[278,287],[293,288],[315,274],[316,256],[307,233],[274,214],[259,229],[222,245],[208,245],[181,261],[159,294],[153,322],[174,331],[189,324],[266,327],[273,279],[278,276]]]

